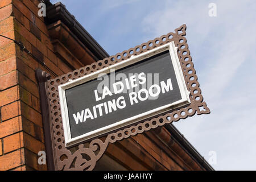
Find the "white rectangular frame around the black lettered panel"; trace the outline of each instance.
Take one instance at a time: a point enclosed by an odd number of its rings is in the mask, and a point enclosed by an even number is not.
[[[84,84],[85,82],[88,82],[90,80],[94,80],[95,78],[98,77],[98,74],[100,74],[100,73],[108,74],[108,73],[110,73],[110,69],[115,69],[115,71],[117,71],[118,69],[127,67],[128,65],[131,65],[134,63],[138,63],[139,61],[142,61],[144,59],[147,59],[148,57],[157,55],[158,53],[161,53],[161,52],[164,52],[167,50],[170,51],[172,65],[174,66],[177,83],[178,83],[180,93],[181,93],[181,100],[173,102],[168,105],[158,107],[156,109],[152,109],[150,111],[135,115],[135,116],[127,118],[127,119],[123,119],[122,121],[118,121],[118,122],[113,123],[112,125],[108,125],[108,126],[100,128],[100,129],[90,131],[89,133],[82,134],[78,137],[71,138],[71,130],[70,130],[70,125],[69,125],[68,107],[67,107],[67,100],[66,100],[66,96],[65,96],[65,90],[73,88],[74,86],[77,86],[77,85]],[[99,71],[90,73],[89,75],[77,78],[76,80],[70,80],[66,84],[59,85],[58,90],[59,90],[60,109],[61,109],[61,117],[62,117],[62,121],[63,121],[63,130],[64,130],[64,138],[65,138],[65,146],[66,147],[70,147],[70,146],[73,146],[74,144],[84,142],[85,140],[96,138],[100,135],[109,133],[111,131],[131,125],[138,121],[141,121],[144,118],[147,118],[147,117],[150,118],[150,117],[153,117],[154,115],[164,113],[167,110],[176,109],[177,107],[181,107],[181,106],[191,103],[191,101],[189,99],[190,92],[188,92],[188,90],[187,90],[187,86],[185,84],[185,80],[184,80],[184,76],[183,76],[183,71],[181,69],[179,58],[177,56],[177,47],[175,47],[175,44],[173,41],[171,43],[164,44],[163,46],[151,49],[150,51],[141,53],[140,55],[131,56],[129,59],[127,59],[125,61],[121,61],[120,63],[110,65],[109,67],[100,69]]]

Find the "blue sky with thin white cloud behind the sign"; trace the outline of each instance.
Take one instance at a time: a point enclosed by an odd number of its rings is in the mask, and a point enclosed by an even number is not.
[[[212,113],[175,126],[205,159],[216,151],[214,169],[256,170],[256,1],[60,2],[109,55],[187,24],[187,42]],[[208,15],[209,3],[216,3],[216,17]]]

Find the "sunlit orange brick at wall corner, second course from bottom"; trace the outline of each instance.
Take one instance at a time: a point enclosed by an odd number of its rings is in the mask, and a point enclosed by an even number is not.
[[[4,154],[22,148],[23,143],[23,133],[16,133],[10,135],[9,137],[3,138],[3,152]]]

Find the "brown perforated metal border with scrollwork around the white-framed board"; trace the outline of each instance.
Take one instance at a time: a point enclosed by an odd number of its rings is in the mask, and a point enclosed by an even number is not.
[[[92,170],[97,160],[104,154],[109,143],[114,143],[117,140],[122,140],[150,129],[155,129],[158,126],[163,126],[173,121],[179,121],[179,119],[185,119],[196,113],[198,115],[210,113],[207,104],[203,101],[196,71],[193,68],[192,58],[188,49],[187,39],[184,37],[186,35],[186,28],[185,24],[183,24],[177,28],[174,33],[171,32],[167,35],[163,35],[160,38],[143,43],[141,46],[130,48],[122,53],[117,53],[115,56],[110,56],[104,60],[97,61],[97,63],[93,63],[46,82],[50,110],[50,127],[52,127],[50,133],[53,142],[53,163],[56,170]],[[187,83],[187,89],[191,92],[189,96],[191,104],[125,129],[114,131],[106,135],[106,137],[93,139],[90,142],[82,143],[72,148],[65,148],[63,123],[61,121],[57,90],[58,86],[68,82],[69,79],[75,80],[76,78],[88,75],[99,69],[129,59],[132,55],[139,55],[142,52],[149,51],[172,41],[174,41],[175,46],[178,48],[177,55],[179,56],[181,68],[183,69],[183,76]]]

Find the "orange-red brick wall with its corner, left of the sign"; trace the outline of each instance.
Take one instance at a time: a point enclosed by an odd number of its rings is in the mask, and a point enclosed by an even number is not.
[[[53,53],[38,0],[1,0],[0,34],[24,44],[57,75],[71,71]],[[61,65],[58,65],[61,64]],[[46,70],[16,44],[0,38],[0,170],[46,170],[39,88],[35,70]],[[63,69],[61,69],[63,68]]]

